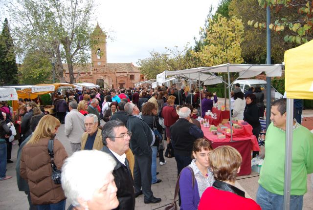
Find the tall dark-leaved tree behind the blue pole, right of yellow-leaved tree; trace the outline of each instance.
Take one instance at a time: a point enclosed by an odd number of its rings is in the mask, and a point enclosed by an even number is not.
[[[296,13],[295,10],[282,8],[278,12],[271,11],[270,15],[275,20],[287,15],[292,18],[294,13]],[[247,25],[250,20],[254,20],[258,24],[265,22],[266,9],[260,7],[256,0],[232,0],[229,5],[229,15],[242,19],[245,27],[244,41],[241,43],[244,62],[251,64],[266,63],[266,30],[258,30]],[[295,46],[294,43],[284,42],[285,33],[275,34],[271,31],[272,63],[282,63],[284,61],[284,52]]]

